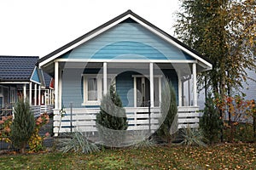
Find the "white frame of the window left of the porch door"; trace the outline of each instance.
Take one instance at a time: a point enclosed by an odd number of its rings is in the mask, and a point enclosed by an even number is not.
[[[82,105],[101,105],[102,100],[102,74],[83,74],[83,87],[84,87],[84,102]],[[114,74],[108,74],[107,78],[110,78],[113,83],[115,83]],[[97,99],[96,100],[88,100],[88,78],[96,78],[97,80]]]

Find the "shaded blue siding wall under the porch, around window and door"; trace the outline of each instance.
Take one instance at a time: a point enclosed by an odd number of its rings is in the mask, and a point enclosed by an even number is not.
[[[177,95],[177,74],[175,70],[162,70],[165,77],[168,78],[175,88]],[[74,108],[87,107],[83,106],[84,103],[84,89],[83,78],[81,75],[84,73],[97,73],[98,70],[81,71],[79,69],[65,69],[62,75],[62,107],[70,107],[70,103],[73,103]],[[112,72],[112,71],[109,71]],[[143,71],[142,71],[143,72]],[[119,94],[122,103],[125,107],[134,106],[133,95],[133,79],[132,75],[139,75],[135,71],[125,71],[120,73],[116,77],[116,89]],[[90,106],[91,107],[91,106]]]

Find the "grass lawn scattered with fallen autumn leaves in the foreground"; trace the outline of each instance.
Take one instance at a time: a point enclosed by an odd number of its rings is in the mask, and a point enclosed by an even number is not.
[[[254,169],[256,143],[0,156],[1,169]]]

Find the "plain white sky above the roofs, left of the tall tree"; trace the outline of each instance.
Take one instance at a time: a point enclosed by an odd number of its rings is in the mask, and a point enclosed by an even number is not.
[[[173,35],[178,0],[0,1],[0,55],[44,57],[131,9]]]

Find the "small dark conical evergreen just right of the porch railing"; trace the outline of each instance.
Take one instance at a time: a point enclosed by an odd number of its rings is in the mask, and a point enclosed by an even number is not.
[[[222,120],[219,119],[218,109],[214,105],[212,94],[208,94],[204,114],[200,119],[199,125],[204,137],[209,140],[210,144],[218,139],[222,124]]]

